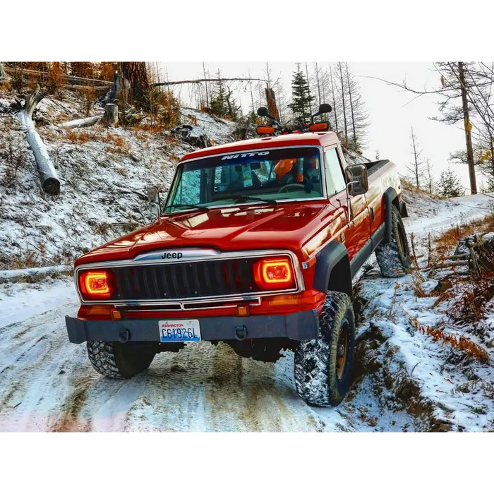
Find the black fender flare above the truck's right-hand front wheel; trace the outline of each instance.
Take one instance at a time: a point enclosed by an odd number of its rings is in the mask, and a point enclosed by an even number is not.
[[[351,271],[347,248],[343,243],[330,241],[315,256],[314,288],[342,291],[351,296]]]

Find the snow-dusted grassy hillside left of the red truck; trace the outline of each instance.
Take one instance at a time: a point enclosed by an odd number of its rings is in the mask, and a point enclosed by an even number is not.
[[[147,186],[166,194],[180,157],[193,150],[167,134],[139,129],[38,126],[61,179],[61,193],[52,197],[41,191],[13,102],[0,93],[0,270],[71,264],[149,223]],[[37,116],[59,123],[83,116],[80,108],[71,95],[63,103],[47,98]],[[181,121],[215,143],[231,140],[235,127],[193,109],[183,109]]]

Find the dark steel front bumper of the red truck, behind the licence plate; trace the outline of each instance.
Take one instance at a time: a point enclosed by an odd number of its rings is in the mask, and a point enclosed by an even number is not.
[[[162,319],[166,318],[163,317]],[[186,319],[186,315],[183,319]],[[306,341],[319,336],[319,317],[316,310],[301,311],[289,315],[191,319],[199,320],[201,337],[207,341],[279,337]],[[159,319],[93,321],[69,318],[67,315],[65,321],[68,339],[72,343],[94,340],[159,342]]]

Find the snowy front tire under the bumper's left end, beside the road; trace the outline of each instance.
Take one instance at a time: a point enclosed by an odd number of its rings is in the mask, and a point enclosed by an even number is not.
[[[157,345],[147,342],[88,342],[92,366],[107,378],[127,379],[146,370],[155,358]]]

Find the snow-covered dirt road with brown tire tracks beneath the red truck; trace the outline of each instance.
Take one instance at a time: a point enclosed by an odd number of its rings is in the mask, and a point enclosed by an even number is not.
[[[448,227],[459,212],[482,214],[487,201],[461,198],[441,206],[434,222],[415,217],[406,223],[417,234]],[[369,291],[366,283],[373,281],[364,281]],[[84,344],[68,342],[64,316],[77,310],[71,279],[0,286],[0,432],[370,433],[417,427],[406,411],[382,406],[366,378],[337,409],[307,406],[294,390],[291,352],[275,364],[261,363],[241,359],[227,345],[201,342],[157,355],[136,378],[108,380],[92,369]]]

